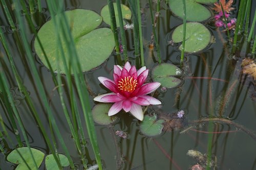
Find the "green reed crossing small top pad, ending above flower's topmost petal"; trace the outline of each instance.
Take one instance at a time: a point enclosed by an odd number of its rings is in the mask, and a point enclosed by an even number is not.
[[[122,15],[120,1],[121,0],[116,1],[116,8],[117,8],[117,13],[118,13],[119,28],[120,28],[122,48],[123,48],[123,56],[124,56],[124,60],[126,62],[126,61],[128,61],[128,55],[127,55],[127,45],[126,45],[125,32],[124,32],[124,29],[123,29],[123,15]]]

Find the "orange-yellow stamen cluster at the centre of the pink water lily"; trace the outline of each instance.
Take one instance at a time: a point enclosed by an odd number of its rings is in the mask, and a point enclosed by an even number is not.
[[[138,83],[136,79],[133,79],[133,77],[128,76],[118,81],[118,88],[122,91],[133,92],[136,89],[137,84]]]

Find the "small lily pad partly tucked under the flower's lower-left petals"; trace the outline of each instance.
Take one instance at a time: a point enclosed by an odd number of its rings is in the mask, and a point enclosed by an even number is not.
[[[94,122],[100,125],[110,125],[117,120],[116,116],[109,116],[108,112],[112,104],[110,103],[100,103],[93,107],[92,114]]]

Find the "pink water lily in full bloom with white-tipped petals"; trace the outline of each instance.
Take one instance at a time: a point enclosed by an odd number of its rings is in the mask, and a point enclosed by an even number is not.
[[[161,104],[159,100],[146,95],[161,85],[158,82],[144,84],[147,74],[148,69],[145,66],[136,70],[135,66],[131,66],[129,62],[126,62],[123,68],[120,65],[114,65],[114,81],[105,77],[98,77],[99,81],[112,92],[99,95],[93,100],[114,103],[109,110],[109,116],[123,109],[142,121],[141,106]]]

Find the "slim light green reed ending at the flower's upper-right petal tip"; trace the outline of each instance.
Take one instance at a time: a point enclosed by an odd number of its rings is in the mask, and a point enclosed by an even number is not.
[[[141,66],[144,66],[144,50],[143,50],[143,38],[142,38],[142,26],[141,26],[140,1],[137,1],[137,13],[138,13],[139,39],[140,39],[140,60],[141,60]]]

